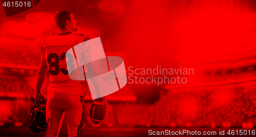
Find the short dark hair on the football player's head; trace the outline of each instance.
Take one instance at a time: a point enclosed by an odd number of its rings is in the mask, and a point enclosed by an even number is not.
[[[73,14],[73,12],[68,10],[61,10],[55,14],[54,20],[55,20],[55,25],[57,26],[58,29],[63,30],[66,28],[66,20],[71,21],[70,14]]]

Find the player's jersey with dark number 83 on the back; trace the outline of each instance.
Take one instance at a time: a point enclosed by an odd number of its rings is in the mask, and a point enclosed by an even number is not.
[[[67,32],[47,36],[40,41],[39,49],[47,60],[50,73],[48,92],[83,96],[82,81],[70,79],[68,73],[68,70],[74,70],[75,57],[67,51],[82,42],[79,41],[80,37],[82,36]]]

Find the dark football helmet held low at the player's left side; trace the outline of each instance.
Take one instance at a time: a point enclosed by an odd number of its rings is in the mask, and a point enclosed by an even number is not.
[[[35,133],[44,132],[47,129],[46,102],[40,101],[30,108],[28,114],[28,127]]]

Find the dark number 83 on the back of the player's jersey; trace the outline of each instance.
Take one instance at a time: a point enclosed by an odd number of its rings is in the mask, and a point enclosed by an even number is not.
[[[70,53],[62,53],[59,57],[56,53],[50,53],[47,56],[47,62],[49,64],[49,72],[51,75],[58,75],[59,72],[63,73],[64,75],[69,75],[68,70],[65,68],[59,69],[59,60],[65,60],[65,57],[68,57],[67,67],[69,67],[69,70],[74,70],[74,64],[73,64],[73,56]],[[54,60],[53,60],[54,59]],[[53,70],[54,67],[54,70]]]

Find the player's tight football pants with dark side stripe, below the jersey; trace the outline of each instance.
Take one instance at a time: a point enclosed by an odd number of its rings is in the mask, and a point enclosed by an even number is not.
[[[64,115],[68,136],[82,136],[86,121],[86,105],[83,96],[48,92],[46,103],[46,137],[58,136]]]

